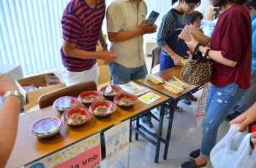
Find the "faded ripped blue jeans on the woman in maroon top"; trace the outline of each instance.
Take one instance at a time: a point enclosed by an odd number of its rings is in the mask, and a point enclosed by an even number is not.
[[[206,115],[203,119],[203,137],[200,155],[208,158],[217,140],[219,125],[227,117],[233,106],[246,94],[247,89],[241,89],[235,82],[225,87],[211,84],[208,94]]]

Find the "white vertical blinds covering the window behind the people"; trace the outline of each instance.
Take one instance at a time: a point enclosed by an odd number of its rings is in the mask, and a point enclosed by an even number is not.
[[[0,0],[0,66],[21,65],[24,76],[61,68],[61,15],[70,0]],[[106,0],[107,6],[113,0]],[[163,15],[171,8],[170,0],[146,0],[151,10]],[[106,23],[103,32],[107,33]]]

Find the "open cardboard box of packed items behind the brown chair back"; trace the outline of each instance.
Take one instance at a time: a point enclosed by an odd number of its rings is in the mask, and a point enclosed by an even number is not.
[[[50,76],[56,76],[54,73],[45,73],[42,75],[37,75],[37,76],[31,76],[29,78],[24,78],[24,79],[18,79],[16,81],[16,85],[18,86],[18,89],[20,90],[20,93],[22,95],[24,95],[25,100],[26,100],[26,104],[28,103],[33,103],[33,105],[37,105],[38,104],[38,98],[41,95],[45,95],[48,92],[52,92],[56,89],[60,89],[63,87],[67,87],[66,84],[57,84],[57,85],[53,85],[50,87],[45,87],[42,89],[37,89],[31,92],[26,92],[25,89],[23,89],[23,87],[21,87],[21,84],[25,84],[25,83],[32,83],[34,84],[34,86],[37,86],[39,84],[46,84],[45,81],[45,75],[50,75]],[[62,80],[59,80],[60,82],[62,82]]]

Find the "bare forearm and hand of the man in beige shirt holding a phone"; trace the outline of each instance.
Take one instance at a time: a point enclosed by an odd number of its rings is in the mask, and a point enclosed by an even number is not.
[[[152,25],[152,23],[145,23],[146,20],[143,20],[138,28],[131,31],[118,31],[118,33],[108,32],[108,39],[111,42],[127,41],[136,36],[140,36],[146,33],[154,33],[157,31],[157,25]]]

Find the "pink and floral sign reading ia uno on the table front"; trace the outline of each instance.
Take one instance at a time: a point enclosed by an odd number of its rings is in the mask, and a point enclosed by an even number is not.
[[[29,164],[29,168],[100,168],[101,167],[100,134],[46,156]]]

